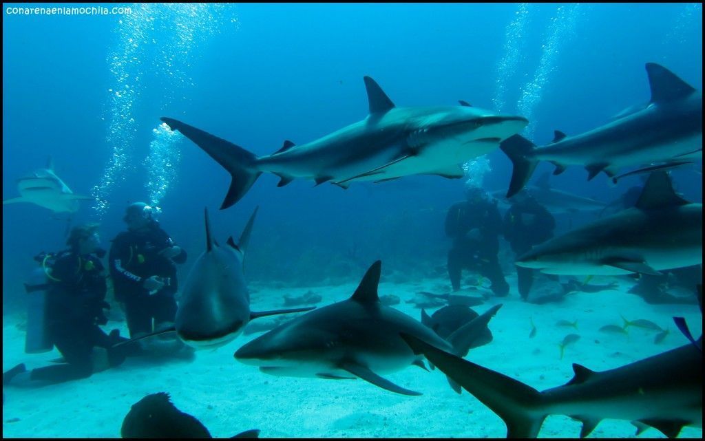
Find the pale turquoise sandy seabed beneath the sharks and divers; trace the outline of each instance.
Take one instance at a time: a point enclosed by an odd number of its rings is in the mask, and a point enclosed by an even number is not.
[[[563,302],[528,304],[521,302],[513,286],[509,297],[491,297],[474,309],[482,313],[498,303],[503,307],[489,328],[494,341],[472,349],[467,359],[521,380],[537,390],[563,385],[572,378],[572,363],[594,371],[617,368],[668,349],[686,344],[675,328],[673,316],[684,316],[694,335],[701,333],[702,318],[696,304],[650,305],[641,297],[627,294],[630,282],[615,279],[619,290],[596,294],[569,294]],[[594,282],[606,282],[607,278]],[[346,299],[356,283],[315,287],[325,306]],[[393,306],[417,320],[420,309],[407,304],[419,291],[439,291],[447,280],[427,279],[393,284],[382,282],[379,295],[395,294],[401,303]],[[283,294],[298,296],[306,288],[256,287],[252,309],[264,311],[283,307]],[[436,309],[429,310],[432,313]],[[628,335],[599,331],[603,325],[622,325],[620,314],[630,320],[654,321],[670,333],[660,344],[655,333],[629,328]],[[529,338],[532,318],[537,328]],[[22,318],[3,321],[3,370],[24,362],[28,369],[46,366],[60,354],[24,354]],[[259,320],[267,320],[262,318]],[[560,320],[577,320],[575,328],[557,325]],[[123,322],[111,322],[106,329],[127,330]],[[577,333],[580,340],[565,348],[560,359],[558,343]],[[130,406],[145,395],[168,392],[180,409],[198,418],[214,437],[231,437],[243,430],[260,429],[260,437],[504,437],[503,421],[472,395],[457,395],[438,370],[427,372],[410,366],[386,378],[423,395],[398,395],[363,380],[276,377],[260,373],[233,358],[240,346],[262,335],[240,335],[215,350],[198,351],[193,361],[168,360],[157,363],[132,358],[117,368],[96,373],[85,380],[37,388],[4,388],[3,437],[119,437]],[[663,375],[678,375],[664,372]],[[539,437],[578,437],[581,423],[568,416],[549,416]],[[634,437],[629,421],[604,420],[590,437]],[[655,429],[639,437],[663,437]],[[684,428],[680,437],[701,438],[699,428]]]

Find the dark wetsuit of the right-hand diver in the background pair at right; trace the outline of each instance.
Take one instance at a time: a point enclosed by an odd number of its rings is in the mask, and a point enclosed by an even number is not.
[[[533,216],[532,221],[527,222],[529,216],[526,215]],[[504,237],[517,256],[551,239],[553,228],[556,228],[556,219],[534,200],[517,202],[504,215]],[[516,268],[519,295],[527,299],[534,282],[534,270],[522,266]]]

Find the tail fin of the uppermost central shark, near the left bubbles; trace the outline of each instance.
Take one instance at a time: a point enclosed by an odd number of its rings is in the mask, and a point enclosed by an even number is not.
[[[221,139],[208,132],[197,129],[172,118],[161,118],[171,130],[178,130],[185,137],[195,142],[209,156],[215,159],[233,177],[228,194],[223,199],[221,210],[233,206],[243,199],[252,184],[255,183],[261,171],[255,167],[257,156],[242,147]]]

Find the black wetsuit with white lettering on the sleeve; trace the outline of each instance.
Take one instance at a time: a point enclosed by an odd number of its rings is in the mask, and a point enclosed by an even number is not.
[[[173,247],[173,241],[156,222],[142,230],[121,232],[110,248],[110,274],[113,278],[115,297],[125,304],[130,337],[137,333],[152,333],[159,323],[173,322],[176,318],[178,289],[176,265],[186,261],[186,251],[169,259],[161,251]],[[145,279],[157,275],[166,281],[164,287],[149,294],[142,286]]]

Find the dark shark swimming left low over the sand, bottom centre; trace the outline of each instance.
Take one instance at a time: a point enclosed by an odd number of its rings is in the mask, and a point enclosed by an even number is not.
[[[380,375],[412,364],[426,368],[423,357],[413,354],[399,334],[415,335],[419,340],[464,356],[499,306],[495,306],[493,313],[461,326],[443,339],[426,325],[379,302],[380,274],[381,261],[376,261],[349,299],[279,325],[240,347],[235,359],[258,366],[270,375],[362,378],[391,392],[421,395]],[[460,392],[460,387],[456,392]]]

